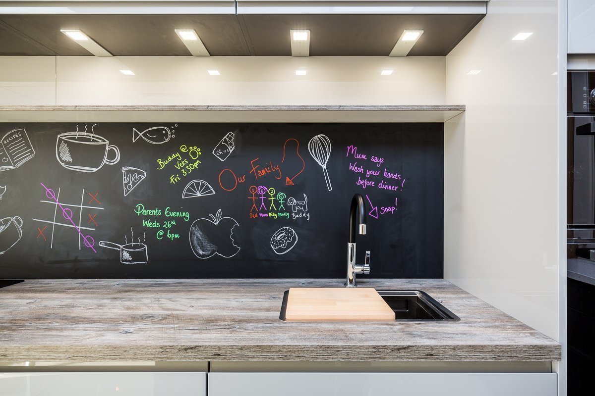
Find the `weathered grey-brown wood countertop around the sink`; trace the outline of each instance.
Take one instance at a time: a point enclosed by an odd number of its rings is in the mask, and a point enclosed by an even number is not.
[[[560,360],[556,341],[446,280],[417,289],[460,322],[279,320],[289,287],[343,280],[30,280],[0,289],[0,361]]]

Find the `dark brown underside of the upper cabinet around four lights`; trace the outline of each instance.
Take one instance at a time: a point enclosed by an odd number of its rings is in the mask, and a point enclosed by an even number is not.
[[[444,56],[483,14],[0,15],[0,55],[90,55],[60,33],[80,29],[115,56],[190,56],[191,28],[212,56],[290,56],[289,30],[311,30],[311,56],[388,56],[403,30],[424,30],[409,55]],[[15,40],[13,36],[21,37]],[[44,52],[45,51],[45,52]]]

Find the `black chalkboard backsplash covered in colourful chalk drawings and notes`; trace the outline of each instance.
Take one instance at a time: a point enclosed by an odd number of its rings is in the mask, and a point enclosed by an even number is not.
[[[443,277],[441,123],[0,126],[0,278],[342,278],[356,192],[369,277]]]

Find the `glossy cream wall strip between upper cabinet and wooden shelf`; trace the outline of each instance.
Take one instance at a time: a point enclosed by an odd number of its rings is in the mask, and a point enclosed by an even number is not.
[[[444,62],[439,56],[3,56],[2,75],[33,88],[28,96],[11,94],[0,100],[1,104],[80,105],[445,104]],[[121,69],[135,75],[123,75]],[[209,75],[211,69],[220,75]],[[307,74],[296,75],[296,69],[306,69]],[[380,75],[383,69],[392,69],[393,74]],[[57,75],[57,100],[54,86],[35,86],[39,75],[45,83]]]

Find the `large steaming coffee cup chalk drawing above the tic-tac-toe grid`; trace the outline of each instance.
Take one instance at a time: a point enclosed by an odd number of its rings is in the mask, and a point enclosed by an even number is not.
[[[114,151],[111,160],[108,160],[109,151]],[[113,165],[120,161],[120,150],[99,135],[65,132],[58,135],[56,159],[66,169],[95,172],[104,164]]]

